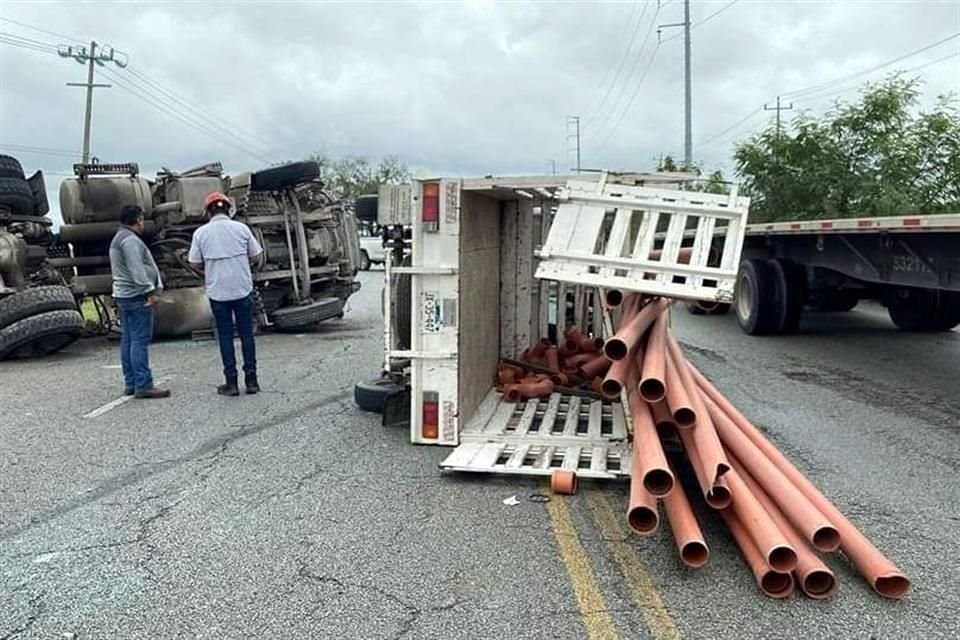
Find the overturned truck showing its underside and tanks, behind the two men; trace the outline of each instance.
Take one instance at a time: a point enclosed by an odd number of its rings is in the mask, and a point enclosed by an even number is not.
[[[227,194],[234,218],[250,227],[263,247],[254,264],[257,322],[262,329],[299,330],[341,317],[360,288],[357,224],[346,203],[319,180],[315,162],[226,175],[219,163],[182,173],[167,169],[149,180],[136,164],[75,166],[76,178],[60,185],[58,253],[51,266],[67,270],[77,295],[111,292],[109,245],[120,209],[144,210],[144,241],[160,268],[163,302],[158,336],[187,335],[212,326],[203,276],[190,268],[193,232],[205,221],[203,201]]]

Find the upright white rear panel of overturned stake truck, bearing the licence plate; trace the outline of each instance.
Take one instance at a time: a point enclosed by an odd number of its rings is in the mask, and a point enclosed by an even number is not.
[[[456,445],[459,443],[460,181],[440,181],[437,231],[424,229],[423,182],[414,183],[412,205],[410,440],[415,444]],[[436,440],[423,438],[425,394],[431,394],[438,402],[439,438]]]

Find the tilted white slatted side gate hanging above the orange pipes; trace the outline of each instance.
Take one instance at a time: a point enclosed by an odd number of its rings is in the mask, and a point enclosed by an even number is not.
[[[717,195],[571,180],[558,200],[538,254],[537,278],[675,298],[733,300],[750,206],[736,189]],[[663,220],[662,251],[651,259]],[[682,264],[679,251],[691,220],[696,221],[693,255]],[[718,226],[718,220],[724,224]],[[719,265],[709,265],[715,235],[722,241]]]

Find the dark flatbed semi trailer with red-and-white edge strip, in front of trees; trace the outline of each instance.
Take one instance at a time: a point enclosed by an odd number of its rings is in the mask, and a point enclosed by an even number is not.
[[[791,333],[806,310],[861,300],[879,301],[904,331],[960,324],[960,214],[747,226],[732,304],[746,333]]]

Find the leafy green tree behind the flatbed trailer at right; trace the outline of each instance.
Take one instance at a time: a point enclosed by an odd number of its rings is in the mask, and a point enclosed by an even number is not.
[[[738,145],[751,220],[960,209],[960,114],[946,96],[921,111],[918,84],[900,76],[868,84],[854,103]]]

